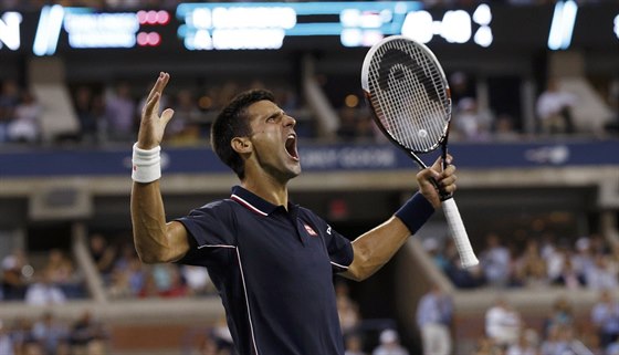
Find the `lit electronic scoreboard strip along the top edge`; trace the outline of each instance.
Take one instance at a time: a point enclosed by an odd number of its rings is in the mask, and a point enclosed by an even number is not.
[[[174,51],[370,46],[405,34],[423,43],[483,49],[619,49],[619,2],[426,9],[420,1],[207,2],[104,11],[45,6],[0,12],[0,56],[88,49]]]

